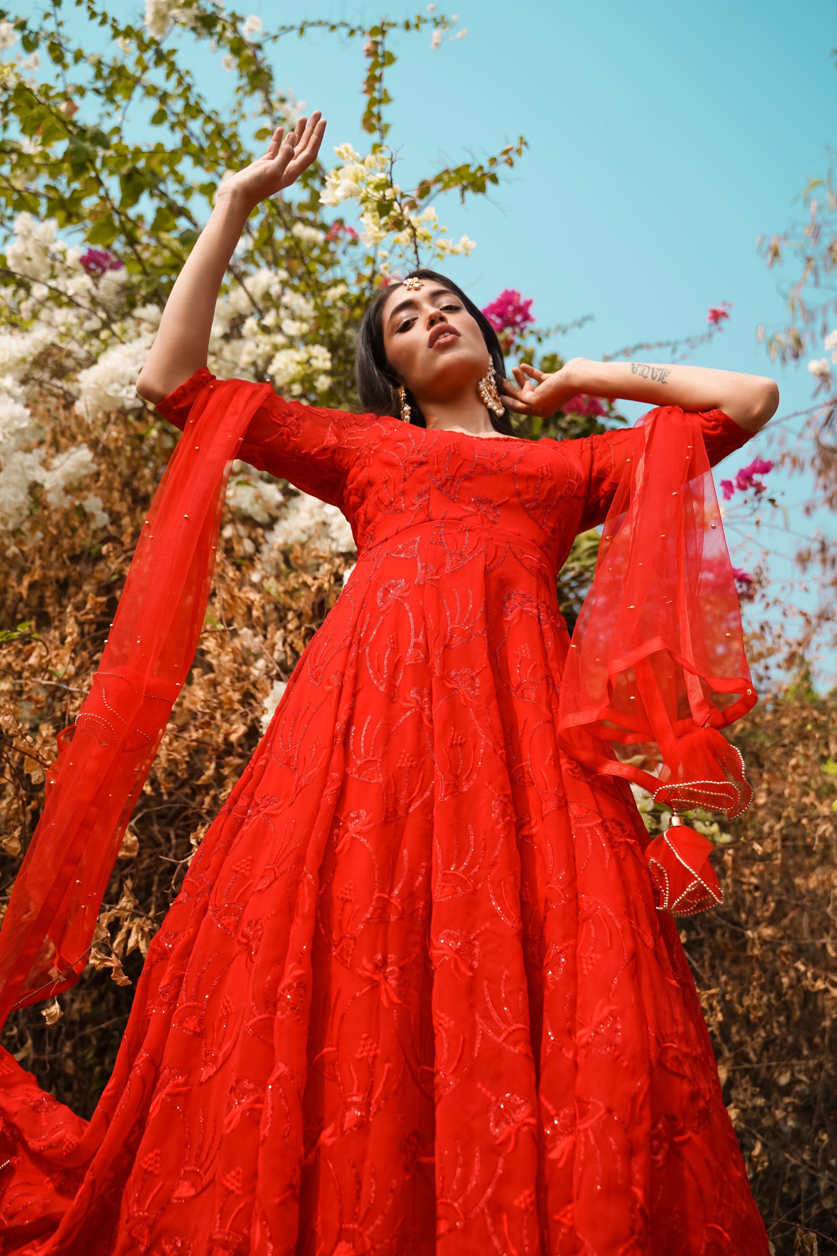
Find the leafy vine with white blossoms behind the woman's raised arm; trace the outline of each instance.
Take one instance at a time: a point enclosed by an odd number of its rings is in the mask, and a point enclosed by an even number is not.
[[[449,239],[429,202],[445,191],[483,193],[525,147],[521,139],[486,162],[430,173],[412,192],[394,181],[395,154],[380,143],[384,73],[395,60],[384,45],[397,30],[449,36],[456,19],[435,10],[368,29],[302,21],[266,30],[257,16],[241,19],[215,0],[147,0],[143,26],[107,9],[95,8],[95,16],[110,46],[89,55],[74,45],[60,6],[43,23],[0,21],[0,50],[10,53],[0,62],[9,167],[0,186],[0,530],[34,528],[38,511],[54,504],[74,504],[94,529],[107,528],[99,499],[84,492],[102,432],[119,414],[148,416],[147,438],[162,438],[134,383],[171,285],[227,171],[252,160],[243,139],[252,104],[266,122],[257,142],[295,118],[266,60],[271,44],[311,28],[363,36],[366,112],[375,121],[364,116],[364,127],[379,139],[363,158],[340,146],[336,171],[316,165],[296,200],[270,200],[251,217],[212,324],[210,367],[222,378],[267,379],[307,403],[354,404],[354,334],[381,276],[473,249],[467,236]],[[233,75],[226,117],[178,62],[169,44],[178,29],[211,41]],[[51,79],[30,77],[39,48],[48,50]],[[163,142],[132,141],[124,127],[132,100],[151,107]],[[358,226],[330,212],[350,200]],[[72,457],[54,456],[40,417],[49,412],[45,396],[90,425],[94,438]],[[238,468],[232,509],[257,521],[281,516],[287,504],[267,481]]]

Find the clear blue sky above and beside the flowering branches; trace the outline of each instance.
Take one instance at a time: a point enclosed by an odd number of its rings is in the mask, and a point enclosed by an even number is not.
[[[304,18],[371,24],[417,9],[404,0],[241,6],[266,29]],[[545,324],[592,314],[561,343],[565,355],[698,333],[710,304],[732,301],[723,334],[691,360],[773,374],[779,414],[809,404],[804,367],[783,371],[755,343],[759,323],[770,329],[784,318],[782,274],[767,270],[755,237],[788,226],[799,215],[797,193],[827,168],[833,0],[802,9],[778,0],[454,0],[445,11],[458,11],[464,39],[433,51],[429,34],[392,36],[399,60],[388,79],[389,139],[402,149],[399,182],[466,154],[482,158],[518,134],[530,143],[489,198],[439,202],[452,234],[477,241],[469,259],[450,264],[452,278],[479,304],[518,288]],[[173,38],[223,109],[231,80],[218,59],[188,35]],[[279,82],[329,118],[326,160],[344,139],[363,149],[360,41],[289,36],[274,60]],[[749,448],[769,455],[768,438]],[[724,474],[738,466],[730,463]],[[811,531],[798,509],[804,479],[774,474],[770,487],[791,507],[791,530]],[[781,516],[772,522],[782,528]],[[818,522],[833,531],[831,519]],[[777,551],[793,545],[781,531],[762,535]],[[729,540],[743,561],[732,530]],[[789,574],[778,558],[774,569]]]

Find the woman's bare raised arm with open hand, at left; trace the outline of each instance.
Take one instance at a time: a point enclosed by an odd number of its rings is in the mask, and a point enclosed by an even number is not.
[[[156,404],[206,365],[215,305],[230,259],[251,212],[269,196],[299,178],[316,160],[325,132],[319,113],[300,118],[282,138],[281,128],[267,152],[252,166],[226,180],[210,221],[177,276],[159,330],[137,379],[137,392]]]

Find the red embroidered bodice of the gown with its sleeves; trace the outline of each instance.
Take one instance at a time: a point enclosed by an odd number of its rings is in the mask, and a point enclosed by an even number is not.
[[[197,372],[159,412],[182,430],[211,378]],[[699,420],[713,465],[752,435],[719,409]],[[561,442],[476,437],[275,396],[252,418],[238,457],[339,506],[361,555],[407,530],[432,534],[433,544],[447,530],[492,533],[528,541],[558,569],[576,535],[604,522],[640,435],[632,427]]]

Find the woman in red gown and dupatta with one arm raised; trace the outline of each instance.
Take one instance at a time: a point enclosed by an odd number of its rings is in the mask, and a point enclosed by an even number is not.
[[[4,1056],[3,1251],[765,1253],[624,777],[674,806],[745,800],[717,730],[755,698],[706,456],[767,422],[776,384],[585,359],[512,384],[430,271],[364,320],[368,413],[213,381],[238,236],[324,126],[225,182],[139,377],[187,435],[50,774],[4,926],[11,1001],[83,966],[191,663],[232,456],[339,505],[358,565],[152,942],[90,1123]],[[578,392],[666,408],[511,435],[507,408]],[[571,643],[556,570],[606,516]],[[606,739],[656,740],[660,776]]]

